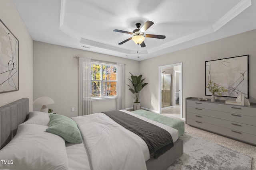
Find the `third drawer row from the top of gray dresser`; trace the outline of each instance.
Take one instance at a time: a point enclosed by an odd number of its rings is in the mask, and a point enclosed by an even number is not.
[[[228,120],[218,119],[214,117],[208,117],[205,115],[199,115],[195,113],[188,113],[186,118],[194,119],[195,121],[197,121],[197,123],[199,122],[209,123],[209,124],[217,125],[220,127],[232,129],[235,131],[256,135],[256,126],[246,125],[243,123],[237,123],[234,121],[228,121]]]

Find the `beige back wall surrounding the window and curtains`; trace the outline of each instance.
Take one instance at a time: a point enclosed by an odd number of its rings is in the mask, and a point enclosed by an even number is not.
[[[73,56],[126,64],[124,107],[132,107],[132,94],[126,84],[129,83],[127,79],[130,78],[129,72],[138,74],[138,61],[38,41],[34,41],[34,99],[49,96],[55,103],[47,107],[52,108],[53,112],[68,117],[78,115],[78,59]],[[71,107],[75,107],[74,112],[71,111]],[[93,113],[114,109],[116,109],[115,99],[92,102]],[[40,107],[34,106],[34,110],[39,111]]]

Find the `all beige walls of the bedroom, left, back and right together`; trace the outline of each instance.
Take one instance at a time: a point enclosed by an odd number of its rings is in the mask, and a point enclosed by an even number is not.
[[[184,103],[185,98],[190,96],[209,98],[209,96],[204,96],[205,61],[248,54],[250,55],[249,100],[256,102],[254,88],[254,84],[256,84],[254,76],[254,72],[256,72],[254,67],[256,64],[256,30],[138,62],[38,41],[34,41],[33,48],[32,38],[11,0],[0,0],[0,19],[19,40],[19,90],[0,94],[0,106],[20,98],[29,98],[30,111],[32,111],[34,99],[40,96],[50,96],[54,98],[55,104],[48,107],[54,109],[54,112],[69,117],[78,115],[78,61],[73,56],[126,63],[125,84],[129,83],[127,81],[127,78],[130,77],[129,72],[143,74],[148,85],[140,94],[142,107],[158,111],[159,66],[183,63]],[[124,95],[125,108],[132,107],[133,98],[126,85]],[[233,99],[231,98],[231,100]],[[94,101],[92,106],[93,112],[115,109],[115,100]],[[71,112],[71,107],[75,107],[74,112]],[[40,107],[34,107],[34,109],[39,110]],[[183,117],[184,111],[185,106],[183,105]]]

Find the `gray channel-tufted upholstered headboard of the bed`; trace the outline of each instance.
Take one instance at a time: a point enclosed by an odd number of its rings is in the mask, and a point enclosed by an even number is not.
[[[18,125],[27,119],[28,110],[28,98],[0,107],[0,149],[16,135]]]

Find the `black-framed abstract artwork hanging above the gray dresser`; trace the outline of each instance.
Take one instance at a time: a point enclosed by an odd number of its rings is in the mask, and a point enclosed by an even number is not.
[[[226,59],[212,60],[205,62],[205,87],[212,80],[219,87],[228,91],[223,97],[238,97],[241,93],[245,98],[249,97],[249,55],[231,57]],[[205,95],[212,93],[205,88]]]

